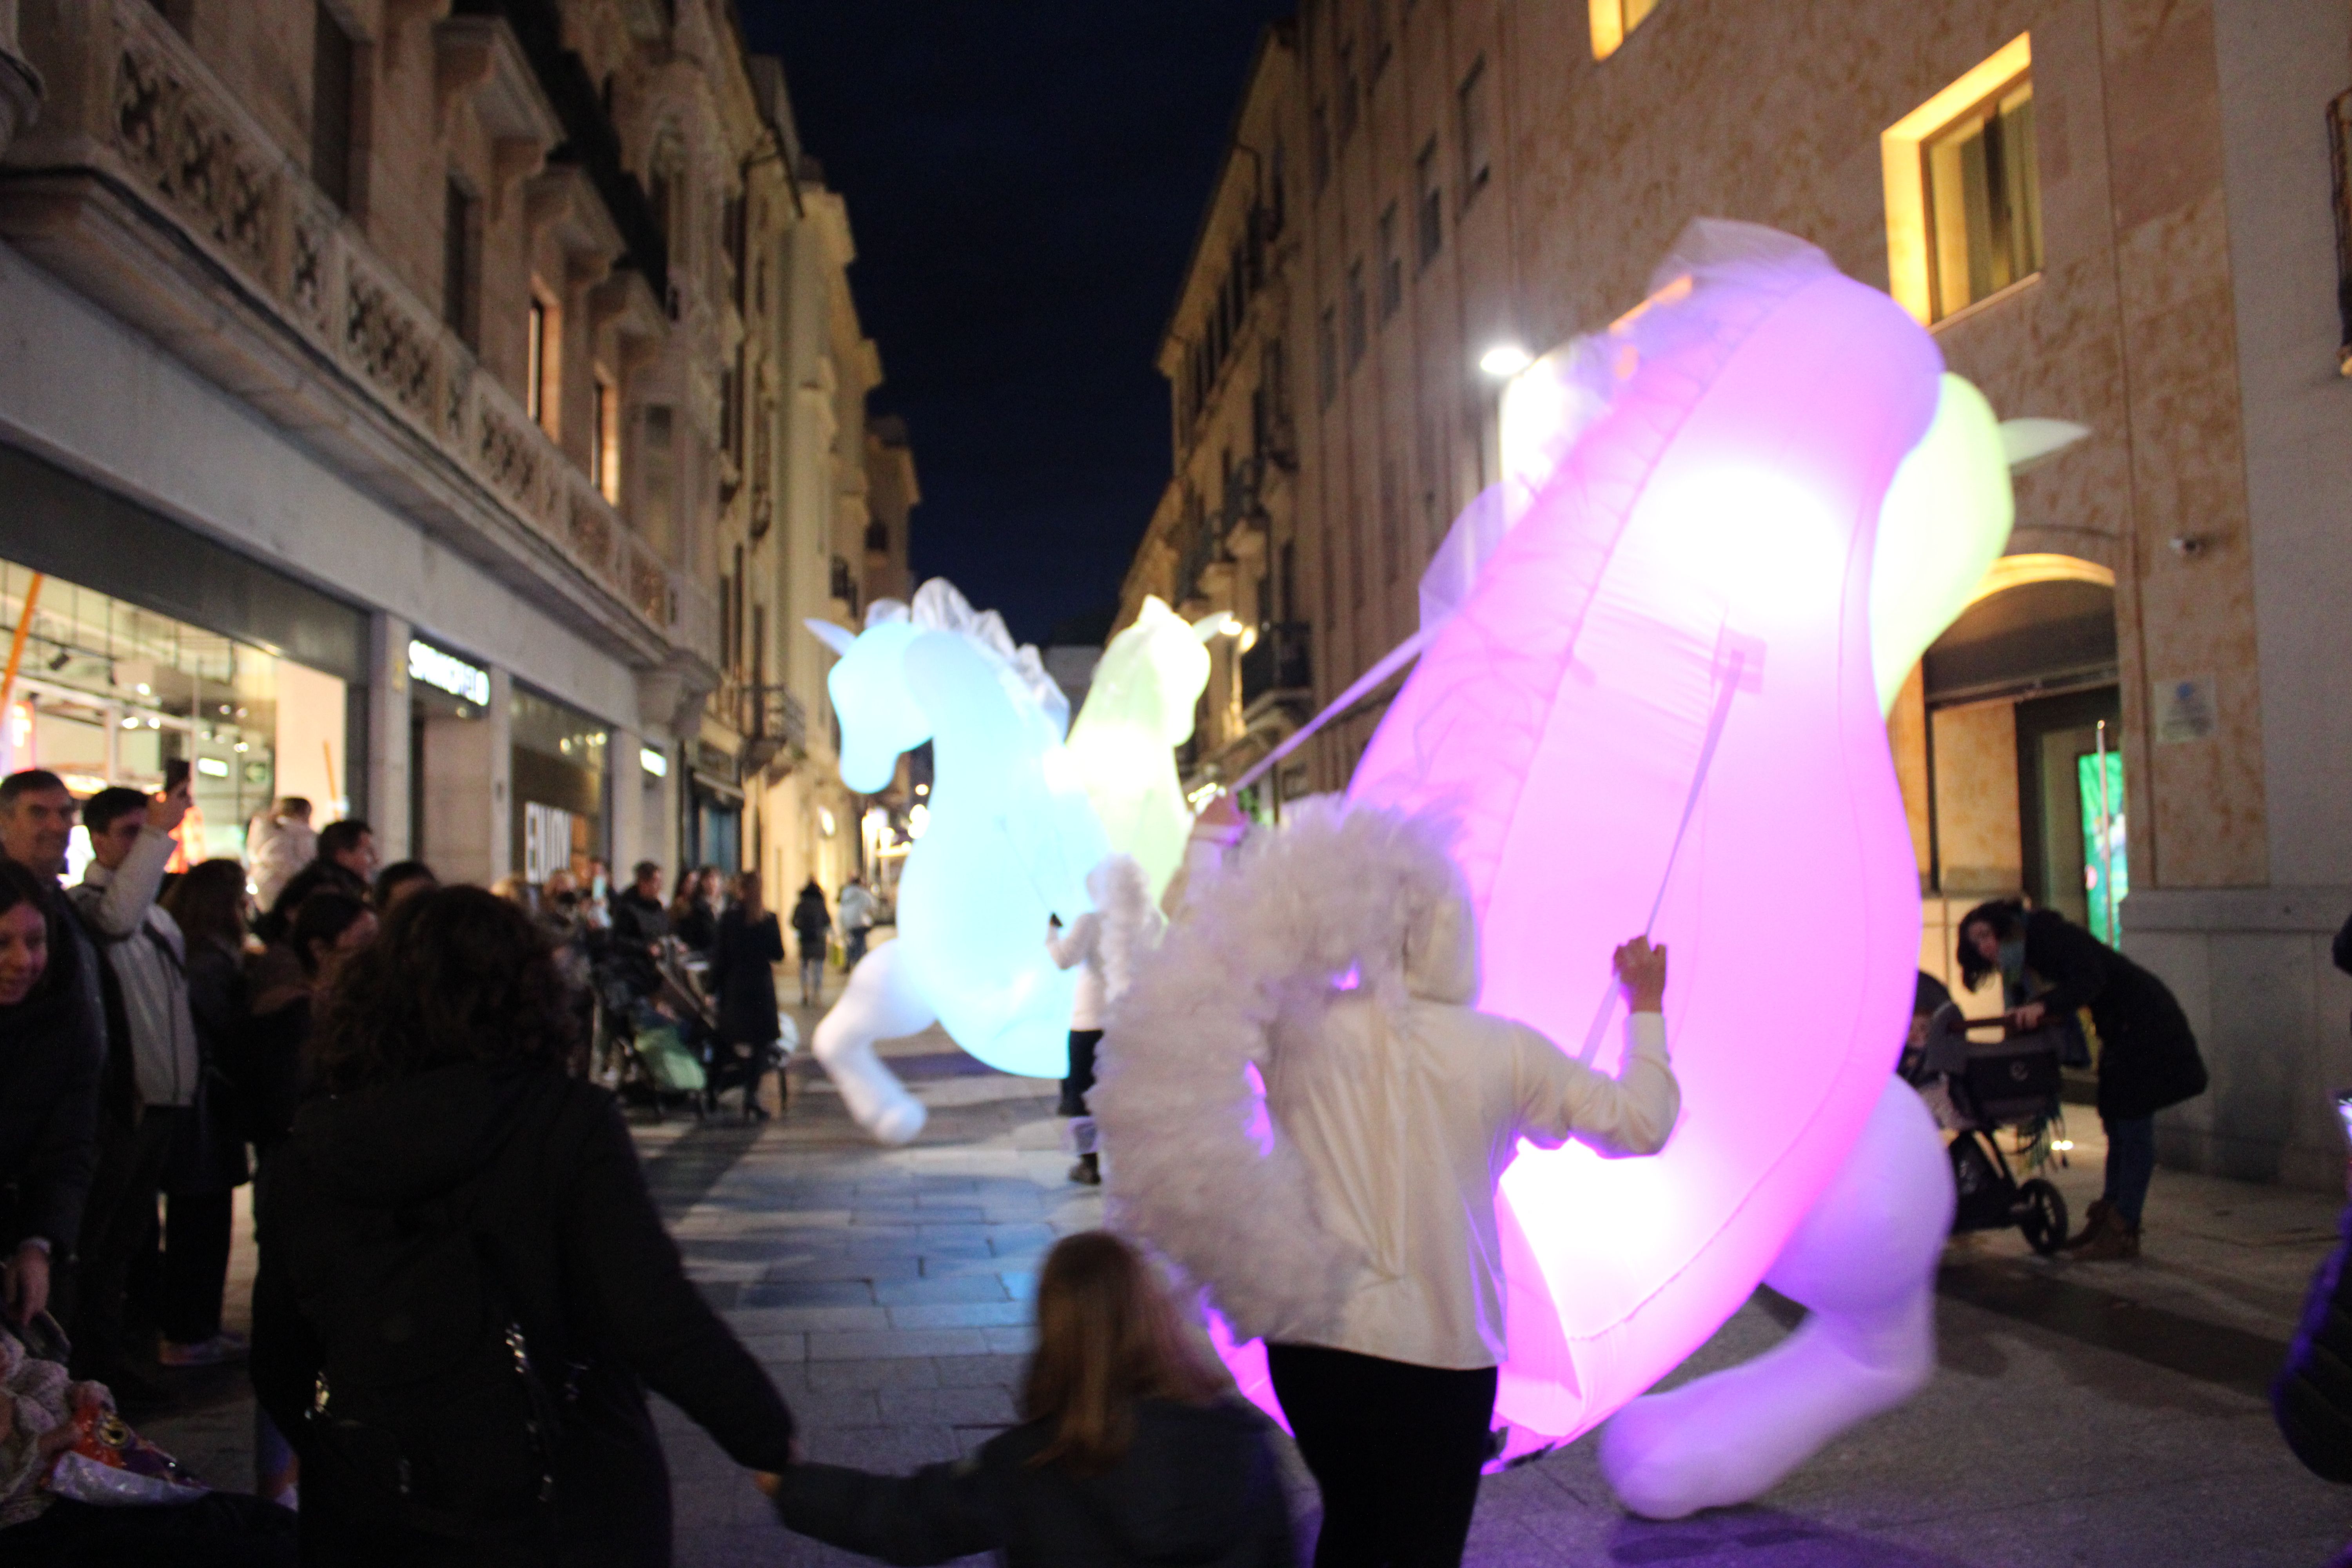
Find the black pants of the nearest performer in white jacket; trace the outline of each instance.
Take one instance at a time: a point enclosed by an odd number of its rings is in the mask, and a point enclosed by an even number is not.
[[[1324,1497],[1315,1568],[1456,1568],[1491,1450],[1494,1368],[1268,1345],[1282,1413]]]

